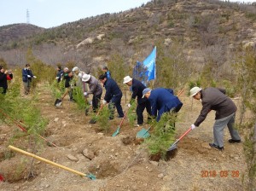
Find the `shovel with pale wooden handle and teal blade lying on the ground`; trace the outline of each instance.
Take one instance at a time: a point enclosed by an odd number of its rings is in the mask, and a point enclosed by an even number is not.
[[[38,155],[33,154],[33,153],[28,153],[28,152],[26,152],[26,151],[24,151],[24,150],[21,150],[20,148],[15,148],[14,146],[11,146],[11,145],[9,145],[8,148],[10,148],[11,150],[14,150],[14,151],[16,151],[16,152],[26,154],[27,156],[30,156],[30,157],[32,157],[32,158],[42,160],[42,161],[44,161],[44,162],[46,162],[46,163],[48,163],[48,164],[50,164],[50,165],[55,165],[55,166],[60,167],[61,169],[64,169],[64,170],[67,170],[67,171],[71,171],[71,172],[73,172],[73,173],[75,173],[75,174],[78,174],[78,175],[80,175],[80,176],[82,176],[82,177],[89,177],[91,180],[96,180],[96,177],[95,177],[93,174],[88,174],[88,175],[86,175],[86,174],[84,174],[84,173],[82,173],[82,172],[75,171],[75,170],[70,169],[70,168],[68,168],[68,167],[66,167],[66,166],[64,166],[64,165],[59,165],[59,164],[57,164],[57,163],[55,163],[55,162],[52,162],[52,161],[50,161],[50,160],[48,160],[48,159],[44,159],[44,158],[39,157]]]

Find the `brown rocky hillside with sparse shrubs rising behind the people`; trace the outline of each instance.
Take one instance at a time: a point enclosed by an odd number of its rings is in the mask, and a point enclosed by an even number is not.
[[[27,25],[2,27],[0,37],[5,43],[1,43],[0,56],[9,64],[16,64],[10,63],[14,61],[8,52],[32,44],[34,54],[49,64],[98,64],[108,62],[116,52],[131,63],[142,60],[156,43],[168,46],[173,41],[183,43],[184,51],[192,57],[198,57],[193,54],[197,49],[211,46],[223,46],[227,53],[241,44],[255,45],[255,13],[253,5],[217,0],[152,1],[137,9],[102,14],[48,30]],[[32,33],[37,34],[26,38]]]

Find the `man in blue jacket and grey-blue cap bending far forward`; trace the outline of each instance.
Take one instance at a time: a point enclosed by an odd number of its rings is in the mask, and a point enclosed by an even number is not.
[[[151,90],[146,88],[143,90],[143,97],[147,97],[152,107],[152,116],[156,116],[156,121],[160,120],[163,113],[172,112],[177,113],[183,106],[177,96],[173,95],[172,89],[156,88]]]

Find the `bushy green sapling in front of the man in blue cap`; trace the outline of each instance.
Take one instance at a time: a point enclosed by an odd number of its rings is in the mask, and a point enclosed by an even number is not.
[[[150,132],[145,144],[151,155],[160,154],[165,159],[167,148],[175,141],[175,121],[177,113],[163,113],[159,122],[152,122],[153,130]]]

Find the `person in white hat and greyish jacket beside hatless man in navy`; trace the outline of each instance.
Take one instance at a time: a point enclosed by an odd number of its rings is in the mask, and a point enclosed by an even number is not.
[[[92,109],[93,112],[96,113],[96,110],[99,107],[99,102],[101,101],[102,97],[102,85],[99,83],[94,76],[90,74],[84,74],[82,77],[82,81],[89,84],[89,90],[84,91],[84,96],[88,96],[92,94]]]

